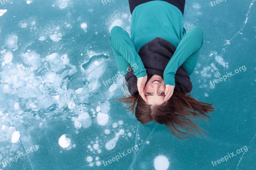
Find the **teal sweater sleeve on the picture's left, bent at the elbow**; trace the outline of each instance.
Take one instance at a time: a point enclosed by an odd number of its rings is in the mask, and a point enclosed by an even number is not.
[[[129,34],[119,26],[114,26],[110,32],[110,45],[114,51],[118,69],[126,74],[131,65],[137,78],[147,75],[146,69],[135,50]]]

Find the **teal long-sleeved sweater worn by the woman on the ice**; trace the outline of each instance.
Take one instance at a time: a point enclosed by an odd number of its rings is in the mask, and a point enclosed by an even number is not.
[[[156,37],[167,40],[176,48],[164,70],[165,85],[175,85],[174,75],[182,64],[188,75],[195,70],[200,50],[204,43],[204,32],[196,26],[186,33],[181,11],[165,1],[154,0],[138,5],[132,12],[131,38],[119,26],[110,32],[110,45],[114,51],[120,71],[126,73],[130,65],[137,78],[147,75],[138,55],[140,48]]]

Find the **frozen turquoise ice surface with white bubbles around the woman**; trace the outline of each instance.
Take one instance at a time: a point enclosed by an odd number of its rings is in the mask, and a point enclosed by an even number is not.
[[[124,77],[106,84],[119,71],[109,33],[130,34],[128,1],[0,2],[0,169],[255,169],[255,5],[186,2],[186,31],[204,30],[192,96],[215,112],[197,122],[206,137],[181,140],[114,100]]]

